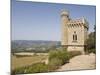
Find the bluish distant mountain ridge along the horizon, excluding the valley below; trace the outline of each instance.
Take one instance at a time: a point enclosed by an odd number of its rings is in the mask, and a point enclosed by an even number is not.
[[[60,41],[44,41],[44,40],[12,40],[11,48],[30,48],[30,47],[52,47],[59,46]]]

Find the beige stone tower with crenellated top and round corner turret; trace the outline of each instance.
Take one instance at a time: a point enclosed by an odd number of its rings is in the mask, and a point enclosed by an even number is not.
[[[69,12],[61,12],[61,45],[68,51],[81,51],[84,53],[85,40],[88,37],[88,22],[85,18],[70,19]]]

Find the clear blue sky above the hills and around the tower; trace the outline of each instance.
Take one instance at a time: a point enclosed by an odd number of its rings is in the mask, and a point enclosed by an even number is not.
[[[69,11],[71,19],[84,16],[89,22],[89,32],[93,31],[96,24],[95,6],[12,0],[12,40],[60,41],[62,9]]]

